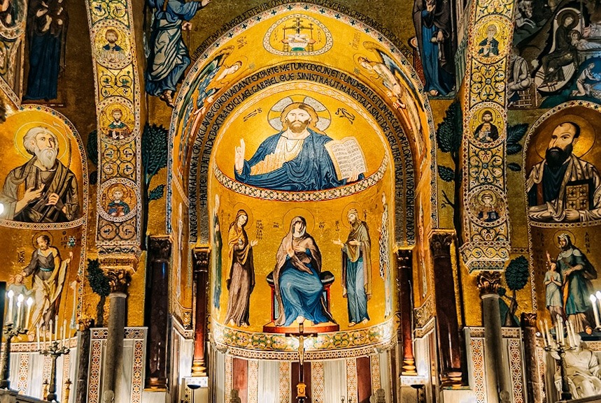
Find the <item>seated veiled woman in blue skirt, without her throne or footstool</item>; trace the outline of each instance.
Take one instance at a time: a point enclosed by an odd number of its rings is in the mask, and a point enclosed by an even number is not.
[[[325,308],[321,272],[321,252],[306,233],[304,217],[295,217],[276,255],[274,284],[278,312],[275,323],[290,326],[295,320],[311,324],[334,322]],[[310,324],[310,325],[311,325]]]

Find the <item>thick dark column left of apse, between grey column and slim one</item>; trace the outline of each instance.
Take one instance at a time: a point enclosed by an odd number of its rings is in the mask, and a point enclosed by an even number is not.
[[[169,236],[150,237],[146,270],[144,323],[146,344],[146,388],[167,389],[167,343],[169,342]]]

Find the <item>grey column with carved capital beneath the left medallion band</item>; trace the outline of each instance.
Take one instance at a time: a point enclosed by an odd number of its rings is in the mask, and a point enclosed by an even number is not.
[[[129,266],[129,268],[133,267],[136,266]],[[107,396],[115,394],[115,383],[122,369],[127,287],[132,281],[129,269],[126,268],[108,270],[106,277],[108,277],[108,284],[111,286],[111,293],[108,295],[108,335],[106,337],[106,358],[102,378],[102,402],[105,401]]]

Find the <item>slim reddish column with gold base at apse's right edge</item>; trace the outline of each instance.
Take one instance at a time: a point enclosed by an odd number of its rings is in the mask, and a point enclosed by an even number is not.
[[[397,291],[399,295],[400,329],[398,341],[403,346],[402,375],[417,375],[415,357],[413,356],[413,291],[411,272],[411,251],[397,251]]]

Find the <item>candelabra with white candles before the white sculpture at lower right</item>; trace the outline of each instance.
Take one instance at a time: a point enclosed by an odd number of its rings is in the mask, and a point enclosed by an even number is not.
[[[565,353],[567,351],[574,351],[578,347],[576,332],[574,326],[563,320],[563,317],[558,315],[556,318],[555,337],[551,335],[549,330],[549,323],[544,321],[544,329],[542,328],[542,322],[539,321],[541,327],[542,337],[544,340],[544,350],[551,354],[551,357],[558,360],[559,370],[561,376],[561,400],[572,400],[572,393],[570,393],[570,385],[567,382],[567,376],[565,374]],[[567,334],[567,340],[566,340]],[[579,340],[579,338],[578,338]]]

